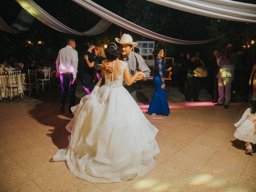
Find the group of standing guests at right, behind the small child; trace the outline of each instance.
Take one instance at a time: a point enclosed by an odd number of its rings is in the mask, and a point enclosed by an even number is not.
[[[205,82],[215,106],[229,108],[230,101],[236,100],[237,93],[248,101],[255,68],[244,49],[235,50],[234,45],[228,43],[223,51],[222,48],[215,48],[212,53],[213,57],[207,62],[200,58],[199,52],[187,53],[186,57],[181,52],[175,59],[172,78],[174,84],[179,84],[185,100],[200,101],[200,84]],[[256,87],[256,80],[254,84]]]

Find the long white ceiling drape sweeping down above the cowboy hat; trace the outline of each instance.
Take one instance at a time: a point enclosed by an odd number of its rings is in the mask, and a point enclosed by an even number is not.
[[[172,44],[180,44],[180,45],[194,45],[194,44],[202,44],[202,43],[207,43],[212,41],[211,39],[209,40],[202,40],[202,41],[185,41],[185,40],[179,40],[179,39],[174,39],[170,38],[161,34],[157,34],[155,32],[152,32],[148,29],[145,29],[141,26],[138,26],[112,12],[109,10],[103,8],[102,6],[92,2],[91,0],[72,0],[76,2],[77,4],[83,6],[87,10],[93,12],[94,14],[108,20],[111,23],[114,23],[122,28],[125,28],[127,30],[130,30],[136,34],[140,34],[142,36],[158,40],[161,42],[166,42],[166,43],[172,43]]]

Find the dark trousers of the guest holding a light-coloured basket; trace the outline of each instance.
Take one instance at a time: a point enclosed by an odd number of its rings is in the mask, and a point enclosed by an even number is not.
[[[192,98],[194,101],[199,100],[200,92],[200,79],[199,77],[187,76],[188,91],[185,95],[185,99],[190,101]]]

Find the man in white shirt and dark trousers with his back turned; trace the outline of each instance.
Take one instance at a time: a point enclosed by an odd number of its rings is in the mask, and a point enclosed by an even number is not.
[[[76,42],[74,39],[68,39],[67,46],[59,51],[56,60],[56,77],[60,76],[61,94],[60,94],[60,112],[65,113],[66,96],[69,92],[69,113],[71,107],[75,105],[76,98],[76,74],[78,66],[78,53],[75,50]]]

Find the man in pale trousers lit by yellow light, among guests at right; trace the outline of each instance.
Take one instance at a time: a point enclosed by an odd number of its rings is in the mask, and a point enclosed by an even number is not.
[[[228,43],[224,49],[225,54],[221,56],[219,62],[218,78],[218,92],[219,99],[215,106],[223,106],[224,109],[229,108],[231,98],[231,85],[234,80],[234,71],[237,60],[237,55],[233,51],[234,46],[232,43]]]

